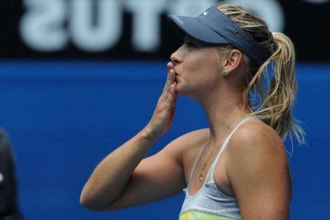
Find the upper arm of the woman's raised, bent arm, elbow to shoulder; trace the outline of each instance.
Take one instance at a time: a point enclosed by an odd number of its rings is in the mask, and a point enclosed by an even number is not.
[[[183,155],[186,148],[198,144],[203,130],[192,131],[170,142],[166,147],[142,159],[135,168],[122,195],[107,210],[139,206],[177,195],[186,187]]]

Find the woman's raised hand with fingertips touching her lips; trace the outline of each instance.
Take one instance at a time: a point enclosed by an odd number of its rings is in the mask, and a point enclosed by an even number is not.
[[[159,97],[157,106],[153,112],[153,117],[144,128],[148,135],[155,140],[162,137],[162,135],[170,129],[170,125],[172,124],[175,115],[175,104],[177,100],[175,70],[173,63],[171,62],[168,62],[167,67],[167,80],[162,95]]]

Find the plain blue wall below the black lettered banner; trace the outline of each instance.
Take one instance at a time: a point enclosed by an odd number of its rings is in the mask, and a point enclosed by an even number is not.
[[[330,65],[297,66],[295,113],[307,145],[294,144],[290,159],[292,219],[329,219],[329,72]],[[25,219],[177,219],[183,194],[118,212],[79,205],[98,162],[151,118],[165,78],[166,61],[0,62],[0,125],[15,147]],[[179,97],[173,126],[148,155],[207,125],[199,105]]]

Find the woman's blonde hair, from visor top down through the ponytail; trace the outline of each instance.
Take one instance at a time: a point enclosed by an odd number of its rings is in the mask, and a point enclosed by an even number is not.
[[[221,4],[217,8],[248,32],[270,56],[258,66],[243,55],[246,67],[244,106],[252,111],[250,115],[258,116],[282,139],[289,133],[290,137],[294,135],[300,144],[304,144],[305,132],[292,114],[297,91],[296,55],[292,41],[285,34],[270,32],[265,21],[239,6]],[[220,50],[230,49],[231,46],[225,46]],[[270,69],[273,76],[269,81]],[[265,80],[268,84],[266,89]]]

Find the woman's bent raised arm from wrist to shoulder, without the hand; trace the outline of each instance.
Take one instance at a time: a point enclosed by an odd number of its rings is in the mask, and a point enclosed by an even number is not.
[[[80,203],[91,210],[120,210],[181,193],[186,187],[184,153],[188,148],[204,143],[208,137],[208,129],[186,133],[170,142],[159,153],[142,159],[136,168],[135,164],[144,155],[144,151],[134,150],[140,137],[133,137],[101,162],[102,165],[99,165],[96,172],[100,175],[87,182]],[[107,175],[102,175],[103,173]],[[126,178],[128,180],[125,181]],[[94,184],[103,186],[95,187]],[[104,200],[100,201],[100,198]]]

